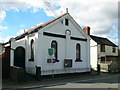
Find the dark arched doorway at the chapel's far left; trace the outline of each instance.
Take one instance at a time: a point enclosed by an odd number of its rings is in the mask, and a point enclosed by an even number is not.
[[[25,69],[25,49],[21,46],[14,51],[14,66]]]

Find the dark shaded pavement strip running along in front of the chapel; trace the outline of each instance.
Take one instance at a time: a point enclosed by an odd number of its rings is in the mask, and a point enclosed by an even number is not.
[[[88,73],[88,74],[81,74],[81,75],[72,75],[72,76],[62,76],[59,78],[47,78],[47,79],[41,79],[41,80],[35,80],[31,79],[25,82],[16,82],[11,79],[6,79],[3,80],[2,83],[2,90],[16,90],[16,89],[34,89],[34,88],[42,88],[42,87],[49,87],[50,85],[55,85],[54,83],[58,83],[61,85],[63,80],[65,82],[70,82],[71,80],[74,81],[76,79],[89,79],[91,77],[97,77],[97,78],[102,78],[102,77],[109,77],[112,76],[113,74],[108,74],[108,73],[101,73],[98,75],[96,72]]]

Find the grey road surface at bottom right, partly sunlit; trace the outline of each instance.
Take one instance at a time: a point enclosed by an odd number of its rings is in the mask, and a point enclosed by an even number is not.
[[[71,79],[63,80],[60,83],[54,82],[52,84],[42,85],[39,88],[120,88],[120,75],[102,76],[102,77],[90,77],[83,79]]]

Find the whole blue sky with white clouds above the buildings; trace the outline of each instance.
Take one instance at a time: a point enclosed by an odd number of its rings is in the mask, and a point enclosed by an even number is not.
[[[45,2],[57,15],[66,8],[81,26],[90,26],[91,34],[118,42],[118,0],[1,0],[0,42],[23,33],[37,24],[55,18]]]

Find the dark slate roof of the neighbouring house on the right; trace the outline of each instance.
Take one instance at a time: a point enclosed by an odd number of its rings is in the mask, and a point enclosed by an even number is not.
[[[113,42],[111,42],[109,39],[107,38],[103,38],[103,37],[97,37],[97,36],[93,36],[90,35],[90,37],[97,43],[97,44],[104,44],[104,45],[109,45],[109,46],[115,46],[117,47],[117,45],[115,45]]]

